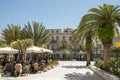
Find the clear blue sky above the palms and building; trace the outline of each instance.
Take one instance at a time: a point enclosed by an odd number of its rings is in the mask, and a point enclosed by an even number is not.
[[[34,21],[46,29],[76,29],[89,9],[104,3],[120,6],[120,0],[0,0],[0,32]]]

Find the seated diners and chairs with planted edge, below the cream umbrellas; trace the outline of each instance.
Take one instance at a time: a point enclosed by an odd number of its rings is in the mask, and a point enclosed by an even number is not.
[[[1,76],[17,77],[39,72],[46,72],[58,64],[55,60],[31,60],[31,61],[10,61],[1,62]]]

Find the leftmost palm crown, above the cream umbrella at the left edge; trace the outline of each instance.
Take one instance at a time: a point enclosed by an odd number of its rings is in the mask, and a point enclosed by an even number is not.
[[[20,26],[11,24],[7,25],[7,28],[2,31],[2,35],[4,36],[6,43],[10,45],[11,42],[20,39],[20,32]]]

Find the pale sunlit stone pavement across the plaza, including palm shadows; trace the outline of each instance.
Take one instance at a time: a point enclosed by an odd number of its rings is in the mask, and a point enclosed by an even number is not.
[[[89,68],[86,61],[59,61],[59,65],[47,72],[25,77],[1,77],[0,80],[103,80]]]

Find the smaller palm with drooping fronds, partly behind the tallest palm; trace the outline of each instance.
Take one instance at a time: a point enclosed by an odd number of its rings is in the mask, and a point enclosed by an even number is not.
[[[85,42],[85,48],[86,48],[86,53],[87,53],[87,63],[86,66],[90,65],[91,61],[91,51],[92,51],[92,37],[93,37],[93,32],[91,30],[84,29],[82,26],[78,26],[78,29],[73,32],[72,34],[72,40],[80,40],[81,42]]]

